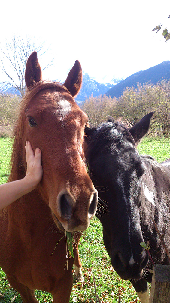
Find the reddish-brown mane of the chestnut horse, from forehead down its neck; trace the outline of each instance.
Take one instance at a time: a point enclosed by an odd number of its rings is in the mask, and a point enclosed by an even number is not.
[[[49,88],[58,91],[59,93],[63,93],[63,92],[69,93],[68,89],[61,83],[43,80],[35,83],[30,88],[27,88],[25,95],[22,97],[21,102],[18,105],[18,109],[17,109],[18,117],[14,125],[14,129],[11,137],[11,139],[14,139],[14,142],[12,148],[11,161],[10,161],[11,174],[8,178],[8,182],[13,181],[15,179],[14,176],[16,175],[17,165],[20,166],[19,170],[21,172],[21,178],[23,178],[26,173],[23,163],[21,161],[22,159],[21,155],[23,154],[22,133],[23,133],[24,120],[25,120],[24,113],[25,113],[25,109],[27,108],[27,104],[30,102],[32,98],[35,97],[35,95],[37,95],[37,93],[39,93],[44,89],[49,89]]]

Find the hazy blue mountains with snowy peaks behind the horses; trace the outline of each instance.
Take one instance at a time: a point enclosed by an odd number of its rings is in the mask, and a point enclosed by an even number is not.
[[[85,101],[85,99],[89,98],[92,94],[94,97],[105,94],[106,96],[111,96],[112,98],[119,98],[126,87],[136,87],[137,83],[144,84],[148,81],[156,84],[163,78],[170,79],[170,61],[163,61],[162,63],[152,66],[146,70],[136,72],[124,80],[112,79],[111,83],[99,83],[91,78],[88,73],[84,73],[82,88],[79,94],[75,97],[75,101],[77,103],[81,103]],[[116,82],[119,83],[116,84]],[[0,90],[2,93],[11,95],[18,95],[19,93],[10,85],[1,85]]]

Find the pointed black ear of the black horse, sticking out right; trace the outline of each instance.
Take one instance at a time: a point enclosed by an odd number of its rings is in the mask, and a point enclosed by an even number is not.
[[[137,145],[140,140],[146,135],[147,131],[149,130],[150,120],[153,116],[153,112],[145,115],[138,123],[130,128],[130,133]]]

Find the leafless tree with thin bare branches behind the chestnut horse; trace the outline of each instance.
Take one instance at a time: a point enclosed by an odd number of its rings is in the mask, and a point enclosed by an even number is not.
[[[22,96],[25,91],[24,73],[27,58],[31,52],[36,51],[38,58],[40,58],[48,49],[44,50],[45,42],[37,45],[35,38],[31,36],[14,35],[11,41],[6,42],[5,47],[0,47],[2,53],[1,63],[2,71],[5,74],[8,81],[1,82],[0,84],[10,85],[11,90],[16,92],[15,95]],[[45,67],[49,67],[52,61]],[[45,69],[43,68],[43,70]]]

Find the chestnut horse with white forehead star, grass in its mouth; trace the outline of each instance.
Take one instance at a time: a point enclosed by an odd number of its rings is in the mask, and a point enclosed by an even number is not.
[[[74,258],[66,258],[65,231],[88,228],[97,208],[97,191],[83,161],[88,119],[73,99],[82,83],[81,65],[75,62],[64,85],[42,81],[33,52],[25,82],[8,181],[26,174],[25,141],[42,152],[43,178],[37,189],[1,211],[0,265],[23,303],[38,302],[35,289],[50,292],[54,303],[68,303],[74,260],[76,267],[81,264],[78,241]]]

